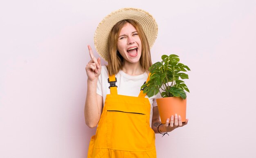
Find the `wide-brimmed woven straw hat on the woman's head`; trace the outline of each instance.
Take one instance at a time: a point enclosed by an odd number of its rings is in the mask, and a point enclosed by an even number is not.
[[[148,39],[150,48],[157,38],[157,23],[152,15],[142,9],[122,8],[107,15],[98,25],[94,34],[94,44],[99,55],[108,61],[108,36],[112,27],[119,21],[131,19],[138,22]]]

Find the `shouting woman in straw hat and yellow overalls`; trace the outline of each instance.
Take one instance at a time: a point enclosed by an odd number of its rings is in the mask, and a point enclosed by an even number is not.
[[[88,46],[85,122],[89,127],[98,125],[89,158],[155,158],[155,133],[187,124],[175,114],[162,125],[155,101],[160,95],[148,98],[140,89],[148,80],[150,46],[156,36],[155,19],[141,9],[119,9],[99,24],[94,43],[108,66],[101,66]]]

